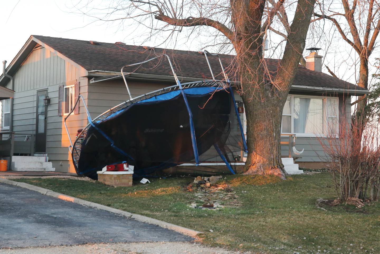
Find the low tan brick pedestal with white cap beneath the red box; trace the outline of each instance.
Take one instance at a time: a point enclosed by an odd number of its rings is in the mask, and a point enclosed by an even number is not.
[[[132,186],[133,171],[97,171],[98,181],[113,187]]]

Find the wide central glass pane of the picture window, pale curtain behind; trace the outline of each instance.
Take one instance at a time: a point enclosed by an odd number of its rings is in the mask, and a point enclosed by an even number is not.
[[[294,132],[323,133],[323,99],[294,97]]]

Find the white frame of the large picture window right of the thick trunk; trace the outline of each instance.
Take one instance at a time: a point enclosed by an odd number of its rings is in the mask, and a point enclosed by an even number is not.
[[[329,97],[329,96],[315,96],[315,95],[298,95],[298,94],[289,94],[288,97],[291,97],[290,104],[291,104],[291,133],[295,134],[297,137],[331,137],[331,135],[328,135],[326,126],[328,124],[328,117],[335,117],[335,116],[328,116],[328,110],[327,110],[327,99],[335,99],[336,100],[336,118],[337,118],[337,126],[336,126],[336,138],[339,137],[339,97]],[[323,100],[323,133],[294,133],[294,97],[296,98],[317,98]],[[289,114],[283,114],[283,116],[289,116]],[[282,134],[290,134],[288,132],[282,132],[282,124],[281,124],[281,133]]]

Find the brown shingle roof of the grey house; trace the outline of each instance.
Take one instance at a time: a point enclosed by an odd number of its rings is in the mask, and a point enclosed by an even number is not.
[[[64,56],[81,65],[86,70],[101,70],[101,71],[120,71],[123,65],[142,62],[165,52],[168,54],[174,63],[174,68],[178,76],[191,78],[210,78],[209,69],[203,55],[195,51],[182,51],[171,49],[144,49],[141,46],[103,43],[91,44],[89,41],[73,40],[64,38],[45,37],[33,35],[33,37],[47,44]],[[227,67],[229,76],[233,76],[232,71],[234,56],[221,55],[223,64]],[[218,60],[216,57],[209,57],[214,74],[220,73],[218,68]],[[280,60],[267,59],[269,71],[275,75],[277,66]],[[152,61],[149,64],[144,64],[136,73],[154,74],[172,76],[168,63],[165,61],[162,64],[158,61]],[[157,66],[156,66],[157,65]],[[137,66],[136,66],[137,67]],[[127,71],[136,70],[136,67],[126,69]],[[326,87],[337,89],[353,89],[365,90],[354,84],[343,81],[339,78],[334,78],[326,73],[308,70],[306,67],[299,65],[294,77],[293,85],[311,86],[311,87]]]

